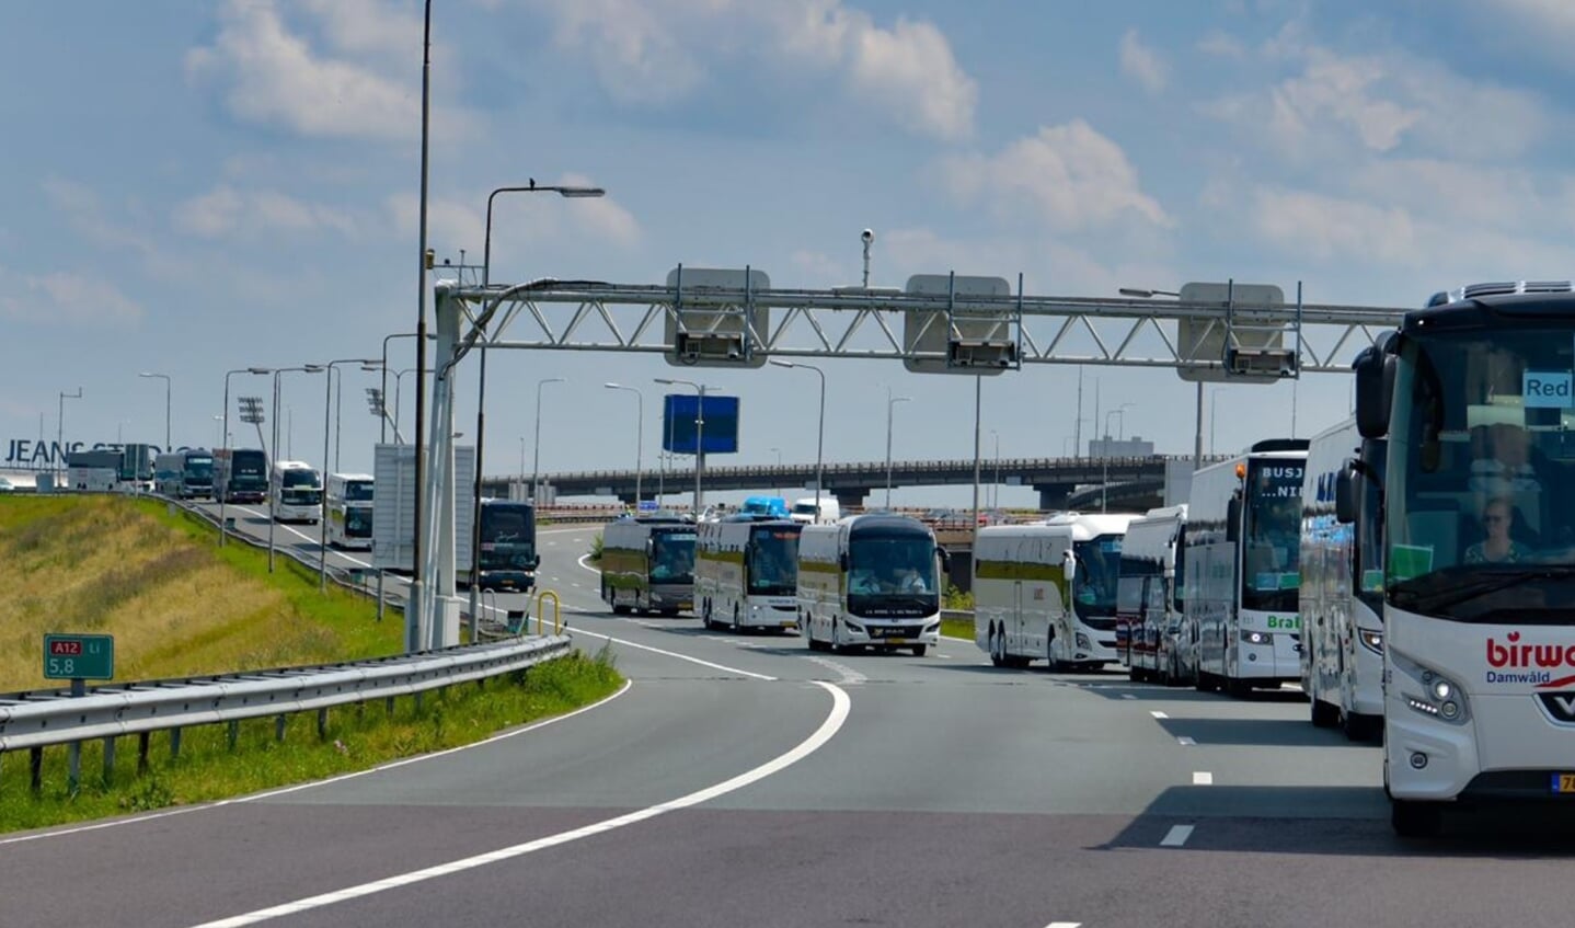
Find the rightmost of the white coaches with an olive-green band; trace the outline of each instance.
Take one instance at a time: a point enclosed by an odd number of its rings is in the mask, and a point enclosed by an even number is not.
[[[995,666],[1098,670],[1120,659],[1115,583],[1136,515],[1065,512],[973,536],[973,641]]]

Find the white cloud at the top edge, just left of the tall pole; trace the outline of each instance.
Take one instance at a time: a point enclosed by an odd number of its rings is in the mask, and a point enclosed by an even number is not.
[[[334,11],[337,5],[313,8]],[[356,8],[365,6],[358,0]],[[386,14],[378,9],[373,16]],[[383,32],[359,33],[345,11],[326,13],[328,35],[346,50],[383,50]],[[375,68],[315,52],[291,33],[271,0],[230,0],[222,8],[213,47],[192,49],[186,71],[194,82],[224,88],[241,120],[318,137],[402,139],[419,124],[417,96]],[[411,50],[421,54],[417,41]]]

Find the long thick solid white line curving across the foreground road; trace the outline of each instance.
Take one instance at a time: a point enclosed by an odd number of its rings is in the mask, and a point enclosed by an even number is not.
[[[324,906],[332,906],[335,903],[369,896],[384,890],[425,882],[428,879],[436,879],[439,876],[450,876],[454,873],[476,870],[477,867],[487,867],[488,863],[498,863],[499,860],[512,860],[524,854],[545,851],[547,848],[556,848],[558,844],[567,844],[570,841],[578,841],[580,838],[589,838],[592,835],[600,835],[605,832],[622,829],[625,826],[657,818],[658,815],[665,815],[668,811],[688,808],[691,805],[710,802],[712,799],[726,796],[728,793],[734,793],[751,783],[756,783],[773,774],[778,774],[791,767],[792,764],[802,761],[803,758],[813,755],[819,748],[825,747],[825,744],[830,742],[832,737],[835,737],[836,733],[843,728],[843,723],[847,720],[847,712],[852,706],[852,700],[849,700],[846,692],[839,690],[832,684],[821,681],[811,681],[811,682],[814,682],[817,687],[822,687],[825,692],[832,695],[832,712],[825,717],[825,722],[822,722],[821,726],[814,729],[813,734],[810,734],[810,737],[799,742],[788,753],[778,755],[776,758],[761,764],[759,767],[754,767],[753,770],[745,770],[743,774],[739,774],[731,780],[724,780],[721,783],[707,786],[704,789],[696,789],[688,796],[680,796],[677,799],[663,802],[660,805],[641,808],[638,811],[610,818],[569,832],[548,835],[545,838],[537,838],[534,841],[526,841],[523,844],[513,844],[510,848],[499,848],[498,851],[476,854],[474,857],[461,857],[460,860],[450,860],[449,863],[439,863],[436,867],[427,867],[424,870],[400,873],[397,876],[389,876],[373,882],[364,882],[361,885],[345,887],[342,890],[329,893],[306,896],[293,903],[284,903],[280,906],[271,906],[268,909],[258,909],[255,912],[246,912],[243,915],[232,915],[228,919],[203,922],[197,928],[239,928],[243,925],[257,925],[258,922],[268,922],[284,915],[296,915],[299,912],[321,909]]]

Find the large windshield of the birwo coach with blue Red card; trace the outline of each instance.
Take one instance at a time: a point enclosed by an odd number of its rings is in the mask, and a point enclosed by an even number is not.
[[[1465,622],[1575,624],[1575,325],[1406,337],[1386,591]]]

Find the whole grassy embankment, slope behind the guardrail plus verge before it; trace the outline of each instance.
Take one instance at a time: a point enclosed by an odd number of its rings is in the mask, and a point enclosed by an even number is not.
[[[395,654],[403,621],[376,605],[317,589],[317,574],[247,545],[219,548],[213,529],[154,501],[71,496],[0,498],[0,692],[58,687],[43,679],[46,632],[115,635],[115,679],[158,679],[354,660]],[[66,750],[44,752],[43,789],[28,789],[27,755],[0,755],[0,830],[239,796],[361,770],[480,741],[496,731],[598,700],[621,685],[606,654],[553,662],[485,687],[463,685],[395,703],[389,714],[345,707],[291,717],[284,742],[272,718],[243,723],[235,750],[224,726],[183,734],[176,758],[154,734],[148,770],[137,739],[117,742],[104,780],[102,744],[82,750],[82,785],[66,789]]]

